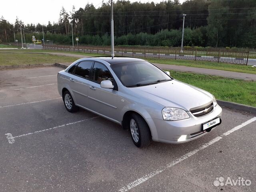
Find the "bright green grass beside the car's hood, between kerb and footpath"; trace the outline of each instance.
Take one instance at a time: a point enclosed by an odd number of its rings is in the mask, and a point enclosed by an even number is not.
[[[170,71],[173,78],[212,93],[217,99],[256,107],[256,82]]]

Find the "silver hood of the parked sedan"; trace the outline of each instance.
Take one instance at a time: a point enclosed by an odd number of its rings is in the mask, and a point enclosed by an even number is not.
[[[130,90],[163,106],[182,108],[186,111],[207,104],[213,99],[209,92],[178,80],[134,87]]]

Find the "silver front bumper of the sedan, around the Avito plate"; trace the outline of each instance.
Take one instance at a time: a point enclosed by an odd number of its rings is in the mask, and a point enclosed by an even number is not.
[[[152,140],[173,144],[195,140],[217,126],[202,131],[202,124],[218,117],[220,117],[221,123],[222,108],[217,104],[210,114],[203,117],[195,117],[190,112],[188,114],[190,118],[177,121],[166,121],[155,118],[147,119],[152,133]]]

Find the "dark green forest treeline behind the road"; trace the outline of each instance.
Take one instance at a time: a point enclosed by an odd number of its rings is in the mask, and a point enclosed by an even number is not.
[[[114,3],[114,35],[116,45],[180,46],[182,14],[185,16],[184,46],[256,47],[256,0],[168,0],[141,3],[118,0]],[[34,34],[54,43],[110,45],[110,2],[95,8],[63,7],[58,22],[42,26],[24,24],[16,18],[14,24],[0,19],[0,41],[13,42],[13,31],[24,29],[27,42]],[[20,38],[20,33],[16,34]],[[18,39],[20,42],[20,39]]]

